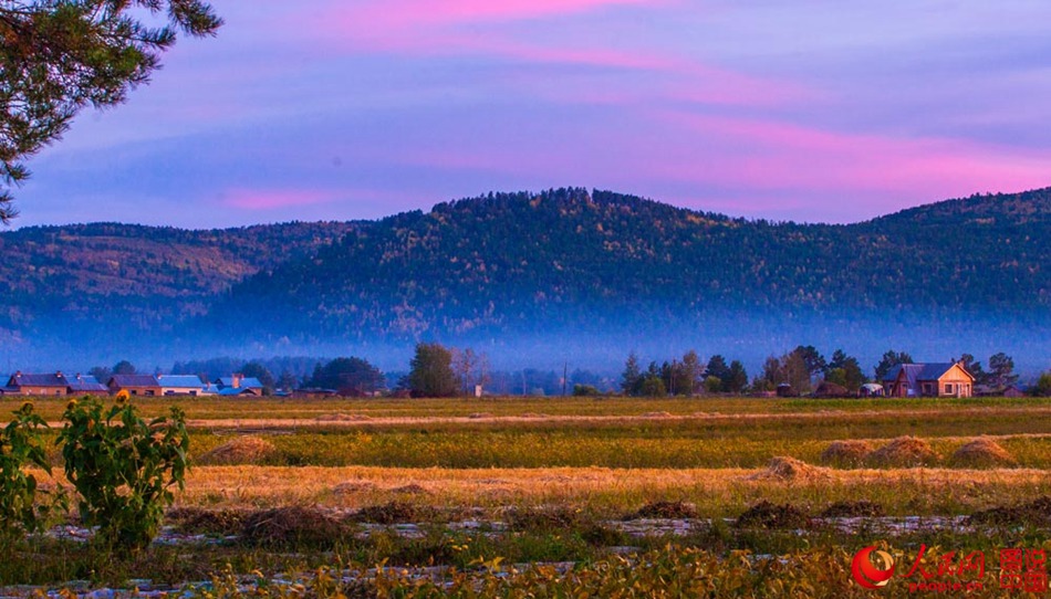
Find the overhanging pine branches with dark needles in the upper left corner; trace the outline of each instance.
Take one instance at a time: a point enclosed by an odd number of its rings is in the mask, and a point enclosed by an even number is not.
[[[160,14],[165,24],[147,23]],[[121,104],[147,83],[177,31],[200,38],[221,24],[201,0],[0,0],[0,222],[18,214],[23,160],[85,106]]]

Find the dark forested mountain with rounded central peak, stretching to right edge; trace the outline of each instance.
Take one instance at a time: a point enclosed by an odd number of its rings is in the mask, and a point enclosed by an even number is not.
[[[601,329],[741,309],[1047,312],[1049,198],[970,198],[828,225],[585,189],[489,195],[355,230],[236,285],[225,308],[284,314],[283,334],[352,338]]]

